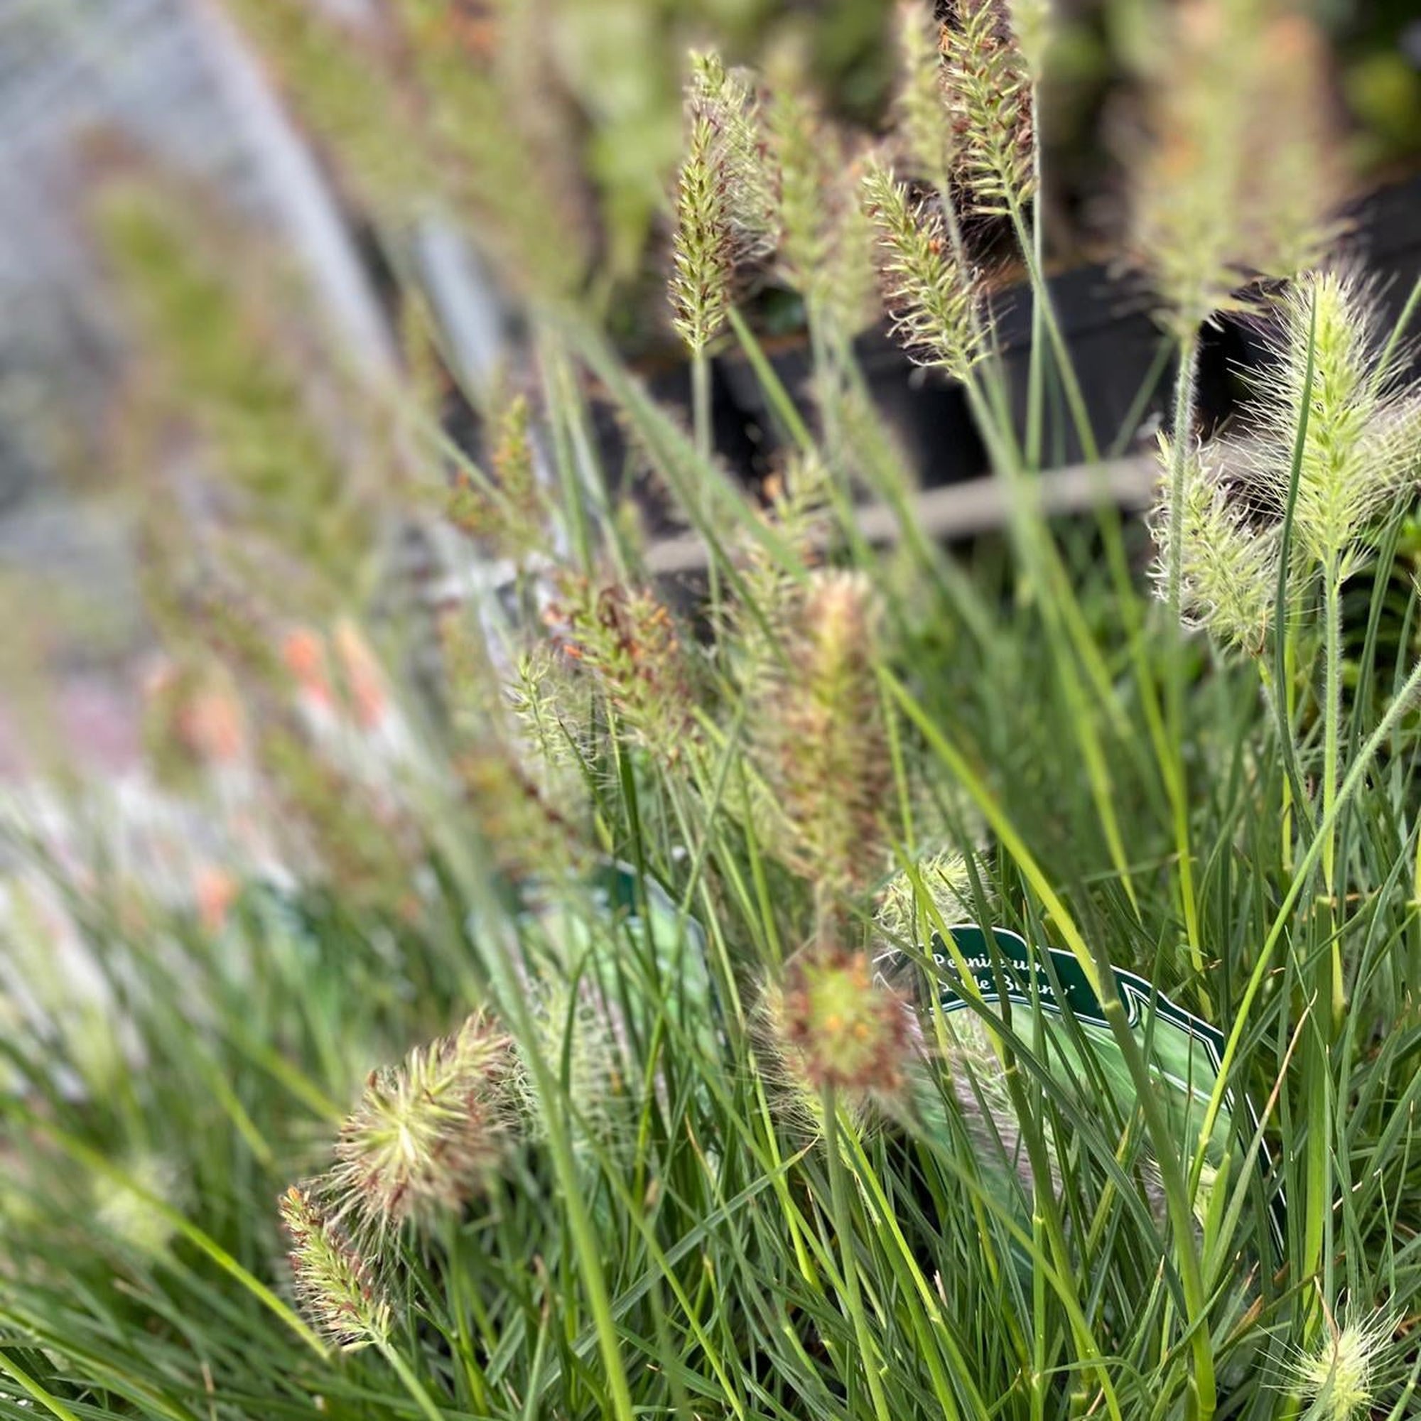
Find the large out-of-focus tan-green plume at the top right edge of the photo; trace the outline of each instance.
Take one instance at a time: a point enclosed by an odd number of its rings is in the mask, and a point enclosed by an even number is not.
[[[1323,50],[1272,0],[1184,0],[1147,70],[1147,141],[1127,146],[1133,242],[1169,324],[1249,303],[1258,276],[1320,260],[1340,196]]]

